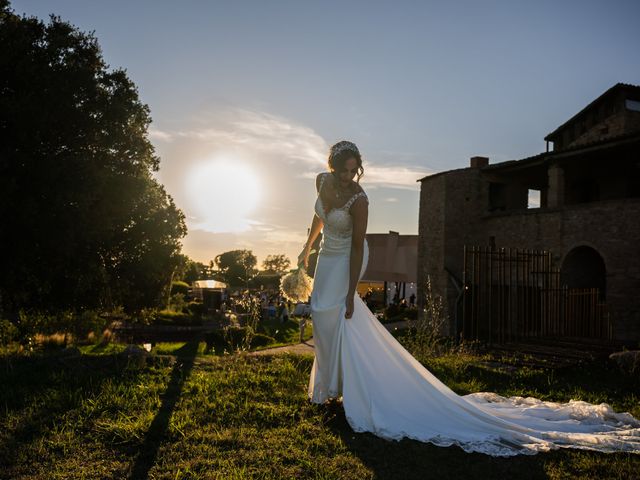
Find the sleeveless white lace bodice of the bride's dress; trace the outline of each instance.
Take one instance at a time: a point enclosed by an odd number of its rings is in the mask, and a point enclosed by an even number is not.
[[[320,253],[348,255],[351,252],[351,235],[353,233],[353,219],[349,213],[349,208],[360,197],[364,197],[367,203],[369,203],[369,199],[366,193],[358,192],[342,207],[332,208],[329,212],[325,212],[320,192],[322,192],[322,185],[327,175],[329,174],[325,173],[320,177],[320,188],[318,189],[318,198],[315,205],[316,214],[324,222]]]

